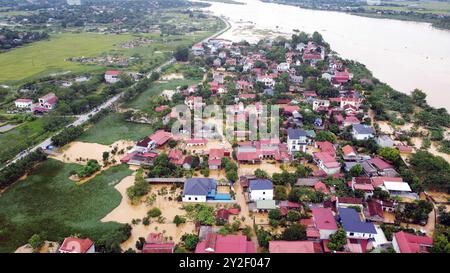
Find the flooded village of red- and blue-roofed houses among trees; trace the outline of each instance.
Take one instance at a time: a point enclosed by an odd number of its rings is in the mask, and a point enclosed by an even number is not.
[[[299,41],[294,35],[257,45],[210,39],[190,54],[207,67],[203,82],[162,92],[154,110],[164,113],[164,124],[180,117],[179,104],[192,112],[231,105],[236,123],[261,116],[267,111],[263,105],[270,105],[280,108],[279,138],[250,140],[248,127],[230,138],[220,129],[224,121],[210,116],[200,119],[201,136],[160,129],[133,143],[118,164],[136,171],[128,183],[134,186],[104,219],[133,217],[122,249],[429,252],[433,205],[399,170],[415,148],[376,130],[364,88],[347,85],[353,75],[320,37]],[[311,74],[315,81],[309,81],[299,68],[321,74]],[[108,71],[105,81],[120,81],[119,74]],[[48,94],[16,106],[46,112],[56,102]],[[141,194],[139,181],[146,185]],[[133,204],[144,205],[122,210]],[[137,219],[142,211],[147,216]],[[58,251],[91,253],[95,245],[89,238],[68,237]]]

